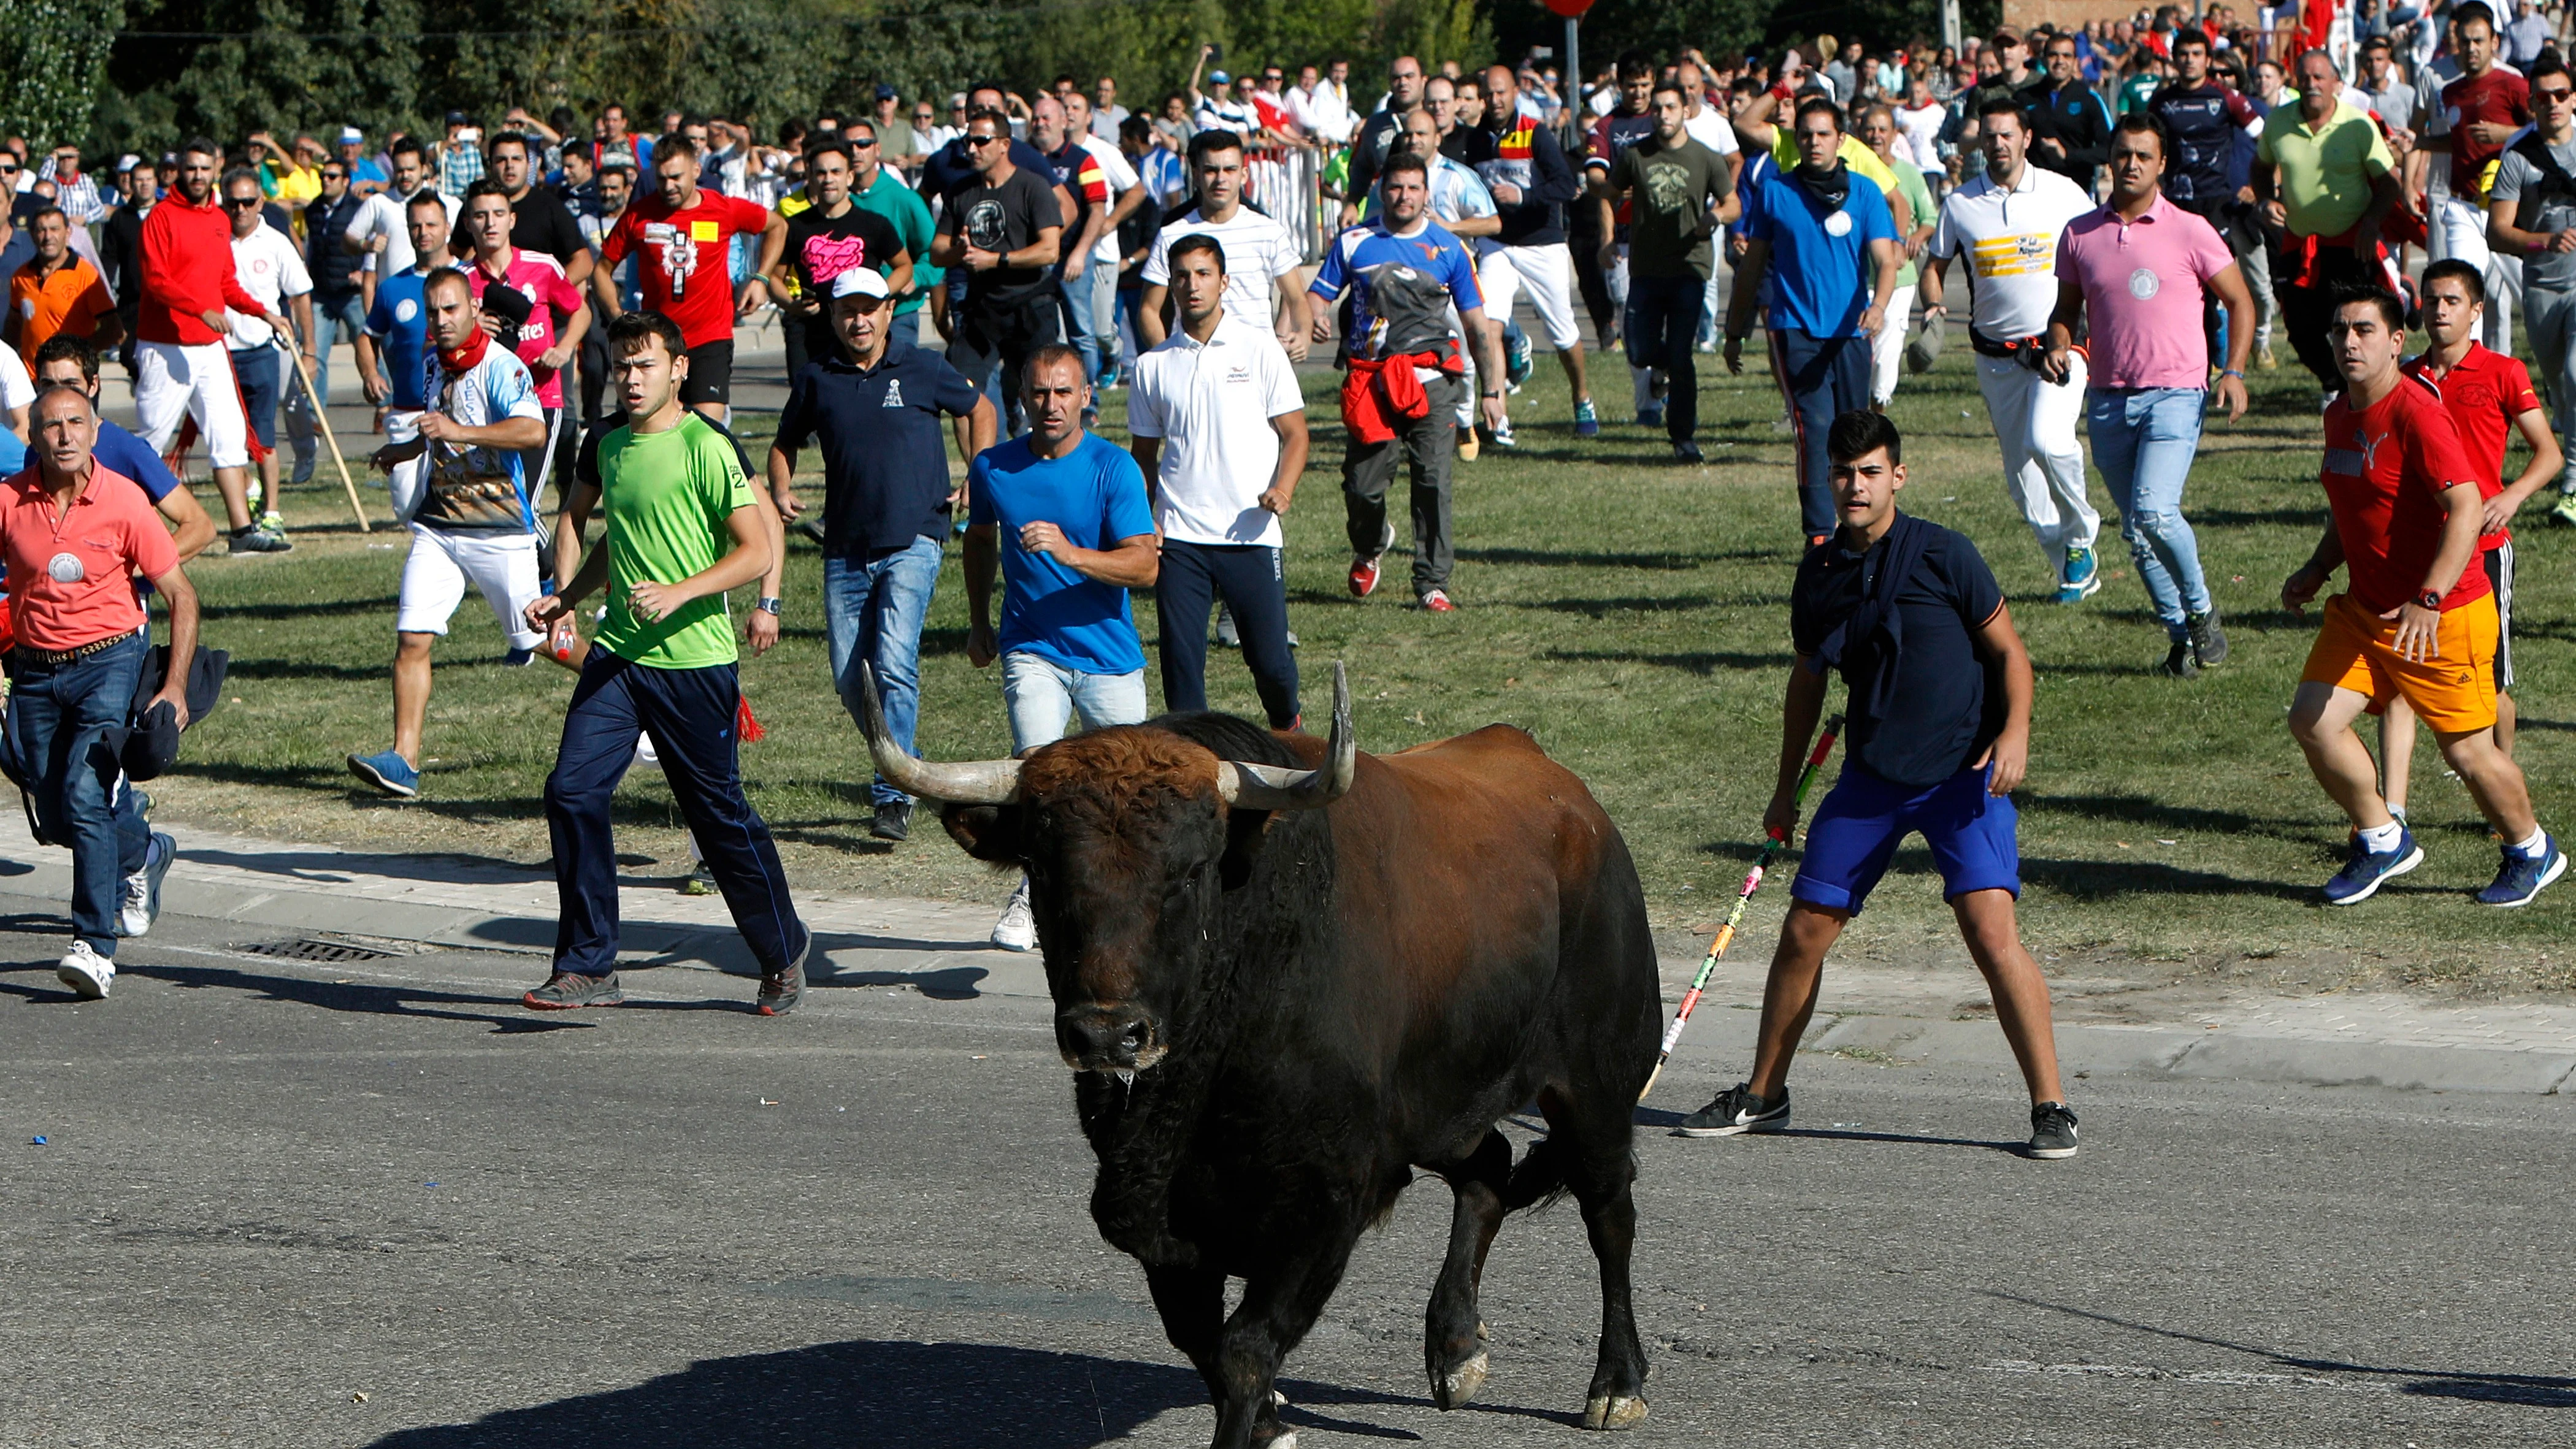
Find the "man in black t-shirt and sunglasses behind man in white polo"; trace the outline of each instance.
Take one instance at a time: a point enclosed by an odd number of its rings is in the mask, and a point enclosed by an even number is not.
[[[1061,314],[1048,268],[1064,239],[1064,214],[1046,178],[1010,160],[1010,118],[976,111],[966,118],[976,183],[948,198],[930,260],[966,273],[948,360],[979,386],[1002,365],[1002,396],[1020,396],[1030,353],[1061,342]],[[1018,401],[1012,404],[1018,407]],[[1018,435],[1018,422],[1012,422]]]

